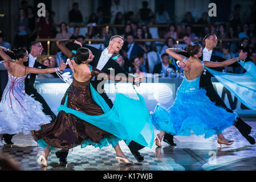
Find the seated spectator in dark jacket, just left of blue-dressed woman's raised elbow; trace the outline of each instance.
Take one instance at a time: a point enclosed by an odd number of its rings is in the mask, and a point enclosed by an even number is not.
[[[162,63],[156,64],[153,73],[166,73],[168,68],[172,68],[176,72],[176,67],[173,64],[169,64],[169,55],[164,53],[161,55]]]

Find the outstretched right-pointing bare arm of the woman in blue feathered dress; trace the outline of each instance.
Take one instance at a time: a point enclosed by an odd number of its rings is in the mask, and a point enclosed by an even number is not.
[[[237,57],[238,60],[245,60],[247,57],[247,53],[241,51],[239,53],[239,56]],[[212,61],[204,61],[205,67],[209,67],[209,68],[214,68],[214,67],[226,67],[230,64],[233,64],[235,62],[237,62],[237,59],[230,59],[230,60],[226,60],[223,62],[212,62]]]

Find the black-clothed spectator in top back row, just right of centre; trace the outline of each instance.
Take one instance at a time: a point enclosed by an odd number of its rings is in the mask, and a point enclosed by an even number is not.
[[[151,9],[148,8],[147,1],[143,1],[141,4],[143,8],[139,9],[139,11],[137,12],[136,19],[139,20],[141,23],[148,24],[150,22],[151,16],[153,16],[154,13]]]

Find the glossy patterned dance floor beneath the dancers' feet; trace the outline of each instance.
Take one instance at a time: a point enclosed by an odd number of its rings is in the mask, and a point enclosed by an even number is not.
[[[251,136],[256,138],[256,118],[245,119],[253,127]],[[155,134],[159,131],[155,130]],[[145,160],[137,162],[124,142],[120,147],[124,154],[133,161],[132,165],[119,164],[115,159],[115,151],[111,146],[94,148],[87,146],[81,149],[75,147],[68,154],[67,166],[59,166],[55,156],[57,150],[51,151],[48,158],[48,167],[42,167],[37,162],[37,156],[43,151],[30,135],[15,135],[14,144],[0,147],[2,152],[9,153],[21,165],[23,170],[67,170],[67,171],[256,171],[256,145],[251,145],[238,130],[232,126],[224,131],[224,136],[234,140],[231,146],[222,146],[217,143],[217,136],[209,139],[192,135],[190,137],[175,136],[176,147],[162,142],[162,147],[155,144],[152,148],[140,150]],[[5,143],[5,142],[3,142]]]

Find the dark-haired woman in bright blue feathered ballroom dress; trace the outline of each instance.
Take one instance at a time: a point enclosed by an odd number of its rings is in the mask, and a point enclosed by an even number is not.
[[[228,113],[222,107],[214,105],[206,96],[206,90],[200,88],[200,76],[204,72],[204,67],[225,67],[237,60],[244,60],[247,53],[241,51],[239,57],[219,63],[198,60],[202,55],[200,44],[189,45],[186,51],[182,50],[189,53],[189,58],[175,53],[176,51],[180,49],[166,49],[166,53],[174,59],[184,61],[188,71],[184,70],[184,80],[177,89],[173,106],[166,110],[157,104],[155,111],[151,112],[153,126],[161,131],[155,136],[156,145],[161,146],[165,133],[189,136],[191,130],[196,135],[205,134],[205,138],[217,134],[219,144],[233,144],[234,141],[227,140],[222,131],[233,125],[237,113]]]

